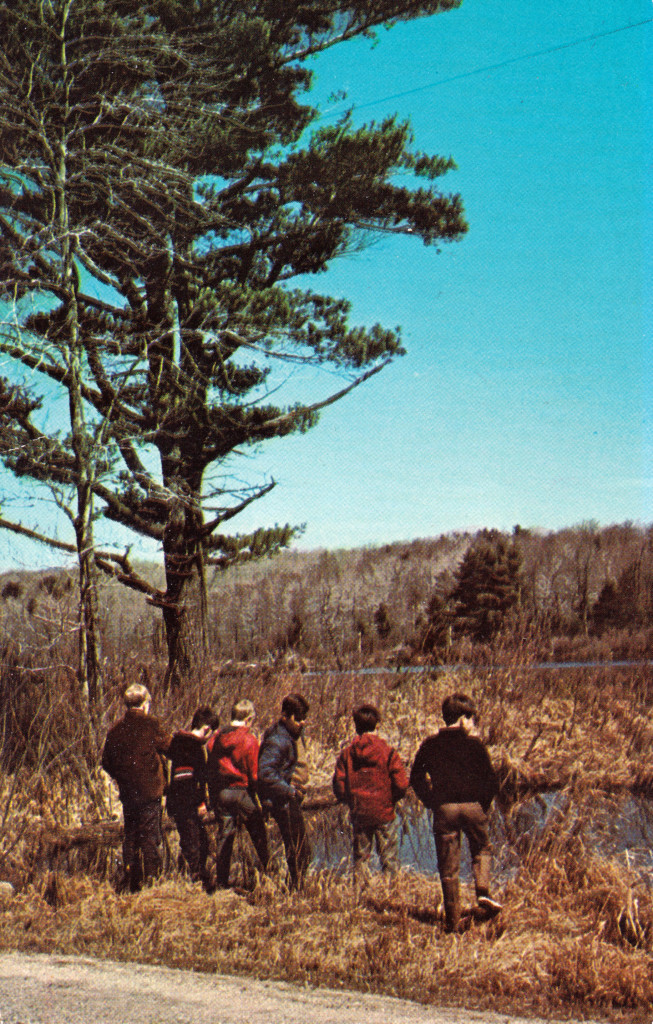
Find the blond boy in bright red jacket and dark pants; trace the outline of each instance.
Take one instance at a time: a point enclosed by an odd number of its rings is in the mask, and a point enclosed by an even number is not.
[[[250,731],[254,718],[252,701],[238,700],[231,709],[228,729],[209,740],[209,797],[220,820],[216,853],[216,882],[220,889],[229,884],[233,841],[241,822],[250,834],[263,870],[267,867],[267,834],[256,792],[259,741]]]

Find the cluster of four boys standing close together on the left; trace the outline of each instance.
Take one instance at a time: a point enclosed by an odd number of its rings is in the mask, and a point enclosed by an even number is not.
[[[226,728],[219,728],[213,709],[198,708],[190,728],[174,735],[149,714],[151,698],[135,683],[124,693],[126,711],[110,729],[102,768],[118,783],[123,805],[122,887],[137,892],[160,873],[163,864],[162,798],[179,833],[181,855],[193,882],[207,891],[226,888],[238,825],[250,834],[261,868],[268,865],[265,817],[278,825],[291,885],[306,873],[310,848],[301,811],[306,778],[297,740],[302,734],[308,702],[291,693],[281,702],[278,721],[261,742],[251,731],[255,718],[251,700],[238,700]],[[220,823],[216,878],[207,868],[211,813]]]

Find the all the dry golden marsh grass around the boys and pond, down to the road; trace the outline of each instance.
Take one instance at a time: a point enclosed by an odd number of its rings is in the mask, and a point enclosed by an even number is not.
[[[637,869],[627,855],[602,856],[589,828],[597,792],[651,794],[650,670],[249,674],[222,677],[183,701],[159,699],[157,711],[179,725],[200,698],[224,714],[247,691],[265,725],[292,689],[311,702],[306,753],[314,784],[331,778],[357,701],[379,703],[383,731],[410,763],[439,724],[443,695],[466,689],[481,709],[509,826],[529,786],[565,787],[559,812],[527,840],[505,830],[510,849],[497,849],[496,860],[513,867],[496,889],[505,909],[495,923],[445,935],[437,881],[407,870],[391,888],[375,880],[358,899],[342,872],[323,868],[301,894],[288,894],[280,876],[257,880],[246,871],[236,891],[209,897],[171,870],[138,896],[118,895],[111,846],[55,860],[44,852],[48,828],[119,812],[101,773],[79,756],[71,726],[59,731],[69,745],[57,758],[25,760],[1,780],[0,877],[16,887],[0,902],[2,948],[252,974],[507,1013],[650,1022],[650,868]],[[102,728],[111,717],[110,708]],[[316,815],[313,829],[341,827],[330,814]]]

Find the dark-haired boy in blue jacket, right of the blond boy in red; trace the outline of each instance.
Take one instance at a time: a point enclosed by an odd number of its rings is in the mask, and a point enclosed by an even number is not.
[[[308,701],[301,693],[289,693],[281,701],[276,725],[263,733],[259,750],[259,796],[264,810],[278,825],[291,887],[301,886],[310,861],[310,845],[302,814],[305,778],[299,772],[297,742],[304,731]]]

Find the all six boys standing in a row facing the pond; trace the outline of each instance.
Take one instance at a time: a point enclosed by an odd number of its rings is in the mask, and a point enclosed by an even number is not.
[[[267,869],[265,819],[276,822],[290,884],[301,885],[310,860],[302,813],[307,774],[298,754],[309,706],[299,693],[281,702],[278,721],[259,740],[252,731],[251,700],[236,701],[227,727],[220,729],[211,708],[199,708],[189,730],[166,733],[149,715],[150,696],[140,684],[130,686],[124,717],[110,730],[102,767],[118,782],[123,804],[125,885],[137,891],[162,865],[162,797],[179,833],[181,854],[190,878],[207,891],[226,888],[234,839],[243,824]],[[433,831],[447,931],[460,931],[461,835],[472,858],[475,915],[489,919],[500,910],[489,893],[488,811],[497,781],[487,750],[475,726],[476,709],[464,693],[442,705],[444,728],[420,746],[410,775],[396,750],[378,733],[380,714],[364,703],[353,712],[355,738],[340,752],[333,778],[339,803],[348,806],[353,831],[354,883],[363,885],[376,844],[382,869],[399,867],[395,807],[408,786],[433,813]],[[169,773],[165,762],[169,762]],[[167,774],[169,779],[167,780]],[[211,812],[219,821],[216,876],[207,869]]]

